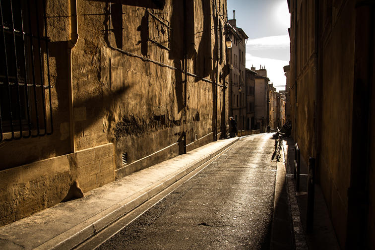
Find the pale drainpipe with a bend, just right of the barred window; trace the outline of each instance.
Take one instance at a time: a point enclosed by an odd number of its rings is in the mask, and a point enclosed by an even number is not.
[[[78,41],[78,17],[77,17],[77,0],[70,0],[70,40],[67,42],[68,56],[68,100],[69,100],[69,130],[70,130],[70,152],[75,152],[74,142],[74,111],[73,111],[73,80],[72,80],[72,63],[71,53]]]

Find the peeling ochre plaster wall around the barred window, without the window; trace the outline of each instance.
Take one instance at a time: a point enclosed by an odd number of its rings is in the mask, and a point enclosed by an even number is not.
[[[228,126],[225,51],[217,60],[219,42],[225,50],[224,33],[211,29],[217,19],[224,27],[226,1],[219,9],[210,0],[187,0],[185,91],[180,2],[77,0],[72,100],[70,3],[47,1],[55,131],[0,144],[1,225],[59,203],[74,181],[87,192],[181,154],[181,145],[191,150],[211,142],[214,131],[220,135]],[[147,41],[147,35],[159,45]],[[125,152],[128,165],[122,162]]]

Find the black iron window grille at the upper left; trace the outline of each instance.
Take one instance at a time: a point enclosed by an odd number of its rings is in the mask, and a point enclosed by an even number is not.
[[[0,141],[53,132],[45,0],[0,0]]]

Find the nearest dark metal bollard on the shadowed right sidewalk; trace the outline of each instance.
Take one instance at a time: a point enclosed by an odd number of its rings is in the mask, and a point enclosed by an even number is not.
[[[309,177],[308,177],[308,204],[307,204],[307,219],[306,232],[312,233],[314,227],[314,184],[315,184],[315,158],[309,158]]]

